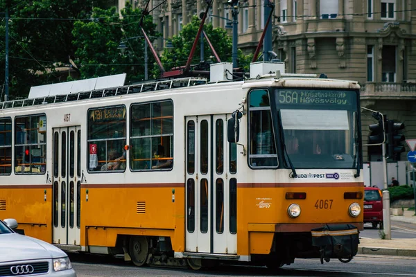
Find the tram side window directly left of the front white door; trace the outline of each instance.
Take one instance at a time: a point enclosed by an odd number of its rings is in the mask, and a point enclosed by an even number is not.
[[[132,105],[130,119],[132,170],[170,170],[173,166],[173,102]]]

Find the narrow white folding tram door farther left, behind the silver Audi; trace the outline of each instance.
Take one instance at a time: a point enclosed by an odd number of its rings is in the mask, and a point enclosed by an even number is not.
[[[53,128],[53,243],[80,245],[80,126]]]

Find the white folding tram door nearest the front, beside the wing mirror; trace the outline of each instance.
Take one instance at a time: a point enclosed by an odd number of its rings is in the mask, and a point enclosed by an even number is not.
[[[236,184],[230,186],[227,115],[191,116],[185,122],[186,251],[236,253],[236,232],[230,226],[236,218]]]

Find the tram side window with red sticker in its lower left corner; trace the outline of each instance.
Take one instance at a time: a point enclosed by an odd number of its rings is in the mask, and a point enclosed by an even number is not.
[[[89,172],[125,170],[125,107],[105,107],[88,111]]]

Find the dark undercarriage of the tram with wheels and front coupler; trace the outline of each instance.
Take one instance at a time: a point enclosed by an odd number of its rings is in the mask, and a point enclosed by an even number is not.
[[[302,233],[275,233],[270,253],[251,254],[250,262],[241,262],[236,255],[215,255],[196,253],[175,258],[171,238],[140,235],[119,235],[116,247],[109,247],[110,255],[124,255],[139,267],[145,265],[191,267],[214,267],[218,264],[250,264],[266,265],[277,269],[283,265],[291,265],[295,258],[319,258],[321,263],[336,258],[341,262],[349,262],[358,251],[358,230],[356,227],[343,224],[324,226]],[[198,254],[198,255],[197,255]]]

